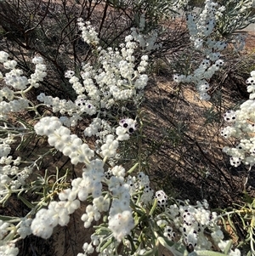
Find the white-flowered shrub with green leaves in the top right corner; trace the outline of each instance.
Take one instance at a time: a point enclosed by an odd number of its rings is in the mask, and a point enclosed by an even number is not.
[[[190,43],[194,53],[200,54],[202,58],[193,60],[185,74],[174,74],[173,80],[178,83],[194,83],[200,99],[210,100],[210,79],[224,65],[221,53],[227,48],[228,43],[234,43],[238,50],[243,48],[244,40],[241,34],[233,37],[232,33],[247,26],[251,8],[252,1],[241,1],[233,6],[230,2],[220,4],[208,0],[198,14],[195,10],[187,12]],[[236,14],[235,18],[232,16],[233,13]],[[225,37],[228,34],[231,36]]]

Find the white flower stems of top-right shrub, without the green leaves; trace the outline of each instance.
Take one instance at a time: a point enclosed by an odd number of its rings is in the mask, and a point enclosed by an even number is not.
[[[200,94],[201,100],[210,100],[211,96],[207,94],[210,85],[207,82],[212,75],[224,65],[224,60],[220,59],[220,52],[227,47],[227,43],[215,41],[209,36],[217,22],[220,12],[224,11],[218,3],[207,0],[205,8],[201,14],[188,14],[187,26],[190,31],[190,41],[194,43],[195,50],[201,51],[204,60],[188,76],[174,74],[175,82],[194,82]]]

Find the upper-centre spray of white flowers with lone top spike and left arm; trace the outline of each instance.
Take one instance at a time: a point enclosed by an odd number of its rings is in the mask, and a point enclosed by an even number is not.
[[[82,30],[83,40],[94,43],[94,47],[99,42],[97,34],[93,32],[92,26],[88,22],[84,23],[81,19],[78,26]],[[77,122],[82,119],[82,115],[92,116],[96,113],[111,109],[113,105],[125,100],[139,102],[141,97],[140,91],[144,89],[148,82],[148,76],[144,74],[148,65],[148,56],[141,56],[137,65],[134,57],[135,50],[139,43],[136,37],[129,35],[125,38],[125,44],[120,49],[107,48],[106,50],[98,47],[96,51],[99,55],[100,67],[94,69],[94,66],[86,64],[82,66],[80,78],[75,75],[74,71],[66,71],[65,77],[69,79],[72,88],[77,93],[77,100],[60,100],[58,97],[40,94],[37,100],[51,107],[54,112],[60,112],[63,117],[61,121],[65,126],[76,126]],[[67,115],[68,117],[64,117]],[[86,128],[84,134],[88,136],[97,133],[99,128],[94,127],[94,123]],[[121,138],[127,139],[127,134],[120,132]],[[124,136],[122,136],[124,135]]]

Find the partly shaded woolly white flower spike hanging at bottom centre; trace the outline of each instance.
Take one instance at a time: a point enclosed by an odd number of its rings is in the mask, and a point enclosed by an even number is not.
[[[112,255],[116,252],[116,242],[121,242],[122,238],[127,236],[133,228],[133,215],[129,207],[130,184],[125,183],[124,176],[125,169],[122,166],[111,168],[111,172],[108,172],[104,179],[109,191],[105,193],[105,196],[94,198],[93,204],[89,204],[86,213],[82,215],[84,226],[88,228],[94,220],[97,221],[102,217],[101,213],[109,211],[108,228],[105,227],[107,232],[101,233],[100,229],[97,230],[91,236],[91,242],[83,244],[84,253],[79,253],[79,256],[88,255],[94,251],[99,253],[99,256]],[[102,244],[108,242],[108,236],[114,236],[116,242],[100,251]]]

